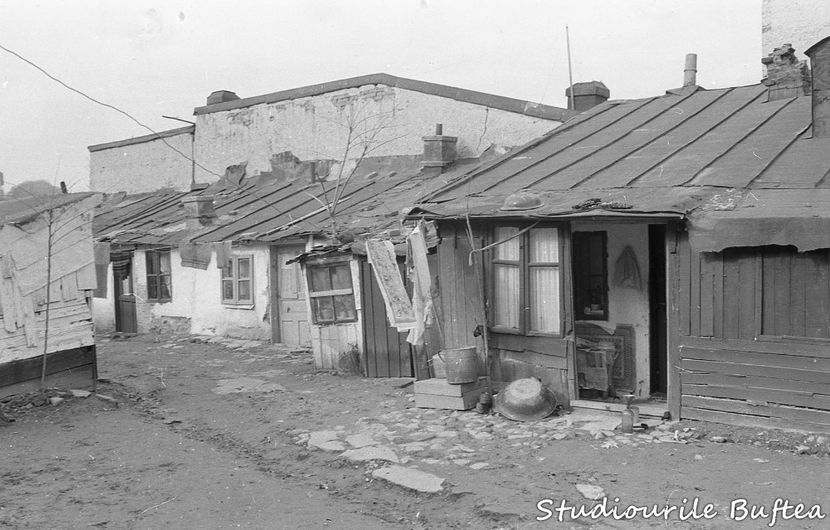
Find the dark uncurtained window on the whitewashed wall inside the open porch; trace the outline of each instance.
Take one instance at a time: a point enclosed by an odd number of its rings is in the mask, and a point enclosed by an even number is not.
[[[607,262],[605,232],[574,232],[576,320],[608,320]]]

